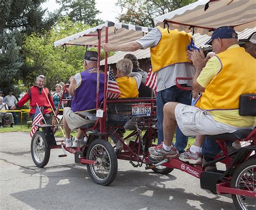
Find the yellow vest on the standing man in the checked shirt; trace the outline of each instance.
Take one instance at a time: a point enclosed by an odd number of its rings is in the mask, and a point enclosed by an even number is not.
[[[153,72],[177,64],[180,62],[191,62],[187,59],[187,46],[191,42],[191,34],[185,31],[162,29],[158,26],[162,37],[158,45],[150,48],[151,64]]]

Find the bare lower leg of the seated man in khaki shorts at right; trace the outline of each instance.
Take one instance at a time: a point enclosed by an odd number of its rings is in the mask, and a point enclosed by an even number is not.
[[[164,105],[164,144],[171,146],[173,141],[174,132],[176,132],[177,122],[175,118],[175,108],[178,103],[168,102]]]

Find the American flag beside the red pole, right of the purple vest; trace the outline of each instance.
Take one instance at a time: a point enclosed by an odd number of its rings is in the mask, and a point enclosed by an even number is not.
[[[109,79],[107,80],[107,99],[117,99],[121,92],[114,78],[113,70],[109,70]]]

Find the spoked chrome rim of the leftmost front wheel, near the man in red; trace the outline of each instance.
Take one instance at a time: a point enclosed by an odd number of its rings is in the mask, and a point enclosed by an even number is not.
[[[33,141],[33,156],[38,163],[42,163],[45,156],[44,140],[41,136],[35,136]]]

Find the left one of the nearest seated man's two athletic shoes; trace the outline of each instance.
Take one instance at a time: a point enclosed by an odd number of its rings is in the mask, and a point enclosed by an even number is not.
[[[150,156],[154,159],[158,158],[164,158],[164,157],[170,157],[170,158],[176,158],[179,156],[179,152],[174,146],[172,146],[170,151],[166,151],[163,148],[163,142],[157,146],[151,146],[149,148]]]

